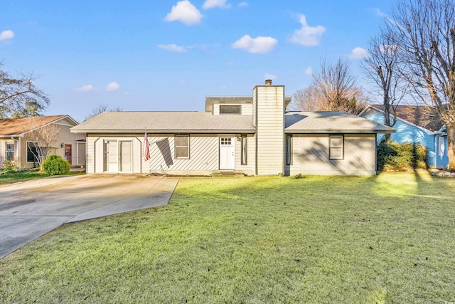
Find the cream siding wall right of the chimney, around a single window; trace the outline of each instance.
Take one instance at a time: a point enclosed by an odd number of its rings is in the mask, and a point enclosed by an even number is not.
[[[328,159],[328,135],[293,135],[289,174],[374,175],[375,135],[344,135],[343,159]]]

